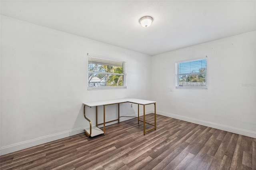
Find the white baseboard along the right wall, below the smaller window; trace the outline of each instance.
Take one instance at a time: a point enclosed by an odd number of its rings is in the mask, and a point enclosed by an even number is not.
[[[252,138],[256,138],[256,132],[253,132],[253,131],[250,131],[250,130],[240,129],[240,128],[236,128],[236,127],[230,127],[230,126],[221,125],[221,124],[218,124],[218,123],[212,123],[212,122],[208,122],[208,121],[203,121],[203,120],[199,120],[199,119],[194,119],[194,118],[190,118],[190,117],[185,117],[185,116],[180,116],[180,115],[176,115],[176,114],[172,114],[172,113],[167,113],[167,112],[163,112],[163,111],[156,111],[156,113],[158,115],[162,115],[162,116],[166,116],[166,117],[172,117],[172,118],[179,119],[179,120],[182,120],[182,121],[196,123],[198,125],[204,125],[204,126],[207,126],[207,127],[216,128],[216,129],[220,129],[220,130],[225,130],[225,131],[228,131],[228,132],[232,132],[232,133],[236,133],[236,134],[242,134],[244,136],[249,136],[249,137],[252,137]]]

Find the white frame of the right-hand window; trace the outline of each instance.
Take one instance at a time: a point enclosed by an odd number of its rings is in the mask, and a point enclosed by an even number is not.
[[[197,60],[206,60],[206,71],[204,71],[203,73],[206,74],[206,79],[205,79],[205,86],[180,86],[180,74],[179,74],[179,64],[180,63],[185,63],[185,62],[189,62],[189,61],[197,61]],[[190,73],[187,75],[199,75],[202,73]],[[175,87],[176,89],[208,89],[208,59],[207,56],[206,57],[199,57],[199,58],[193,58],[193,59],[186,59],[186,60],[182,60],[182,61],[176,61],[175,62]]]

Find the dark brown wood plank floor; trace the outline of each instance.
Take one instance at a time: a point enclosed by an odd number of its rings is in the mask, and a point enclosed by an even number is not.
[[[146,135],[132,119],[106,127],[105,136],[82,133],[2,155],[0,169],[256,170],[256,138],[157,115]]]

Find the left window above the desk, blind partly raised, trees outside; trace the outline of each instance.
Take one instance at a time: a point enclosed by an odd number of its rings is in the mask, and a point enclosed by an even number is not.
[[[126,62],[88,54],[88,89],[126,88]]]

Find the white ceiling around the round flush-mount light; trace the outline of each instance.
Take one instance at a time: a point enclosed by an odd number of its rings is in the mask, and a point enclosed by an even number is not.
[[[1,0],[1,14],[148,55],[256,30],[256,1]],[[152,16],[149,28],[139,19]]]

